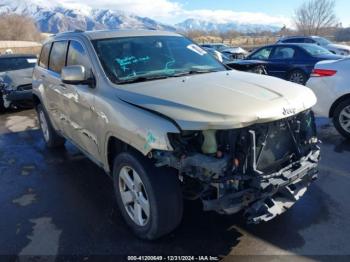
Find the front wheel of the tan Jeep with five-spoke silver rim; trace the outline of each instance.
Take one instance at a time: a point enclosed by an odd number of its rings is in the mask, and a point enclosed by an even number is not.
[[[180,224],[182,192],[173,169],[156,168],[144,156],[124,152],[114,160],[113,181],[119,209],[137,237],[155,240]]]

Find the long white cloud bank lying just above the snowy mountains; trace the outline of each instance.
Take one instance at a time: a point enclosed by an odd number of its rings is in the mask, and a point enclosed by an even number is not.
[[[86,9],[86,6],[89,6],[121,10],[142,17],[150,17],[167,24],[182,22],[187,18],[195,18],[217,23],[291,25],[290,19],[282,16],[254,12],[234,12],[232,10],[186,10],[180,3],[169,0],[61,0],[60,2],[81,9]]]

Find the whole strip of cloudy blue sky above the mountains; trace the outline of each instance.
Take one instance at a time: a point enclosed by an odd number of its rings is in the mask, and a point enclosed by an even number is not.
[[[175,24],[187,18],[292,26],[294,10],[305,0],[60,0],[72,6],[111,8]],[[336,14],[350,26],[350,1],[335,0]]]

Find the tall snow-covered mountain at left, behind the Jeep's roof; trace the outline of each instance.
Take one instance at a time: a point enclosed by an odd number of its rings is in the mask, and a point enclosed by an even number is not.
[[[147,17],[110,9],[88,6],[65,6],[56,0],[0,0],[0,14],[32,17],[42,32],[58,33],[71,30],[98,29],[161,29],[174,31],[172,26]]]

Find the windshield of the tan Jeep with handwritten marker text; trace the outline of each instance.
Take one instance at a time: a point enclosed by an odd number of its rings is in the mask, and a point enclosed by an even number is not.
[[[138,36],[93,41],[103,69],[122,84],[226,70],[205,50],[180,36]]]

